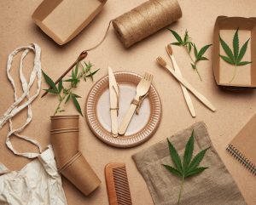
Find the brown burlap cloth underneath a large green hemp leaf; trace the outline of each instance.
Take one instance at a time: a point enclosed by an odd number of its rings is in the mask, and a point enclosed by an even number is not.
[[[183,205],[244,205],[247,204],[235,181],[218,157],[212,146],[205,123],[198,122],[192,127],[174,134],[170,140],[176,147],[179,155],[183,155],[186,142],[189,140],[192,129],[195,128],[195,153],[208,146],[206,156],[201,166],[208,167],[201,174],[185,179],[183,196],[180,204]],[[180,179],[166,171],[161,164],[172,164],[166,140],[152,145],[146,150],[132,156],[139,172],[145,179],[148,190],[155,205],[177,204],[177,195],[180,188]]]

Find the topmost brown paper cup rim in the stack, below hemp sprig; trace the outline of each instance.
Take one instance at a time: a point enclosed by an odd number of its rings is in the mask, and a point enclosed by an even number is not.
[[[51,129],[79,128],[79,115],[51,116]]]

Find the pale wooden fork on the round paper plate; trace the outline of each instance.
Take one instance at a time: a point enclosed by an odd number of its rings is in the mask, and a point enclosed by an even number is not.
[[[131,118],[133,117],[134,112],[139,105],[139,101],[145,94],[148,93],[152,80],[153,75],[146,72],[140,83],[137,84],[136,96],[132,100],[131,106],[129,110],[125,113],[125,117],[119,126],[119,134],[125,134],[125,131],[128,128],[129,123],[131,122]]]

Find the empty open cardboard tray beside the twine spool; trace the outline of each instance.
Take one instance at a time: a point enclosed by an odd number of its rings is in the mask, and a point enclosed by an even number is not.
[[[44,0],[32,20],[59,45],[76,37],[96,17],[107,0]]]

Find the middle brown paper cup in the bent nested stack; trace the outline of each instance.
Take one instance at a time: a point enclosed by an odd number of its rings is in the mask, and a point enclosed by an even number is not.
[[[55,129],[50,132],[57,167],[61,168],[79,151],[79,128]]]

